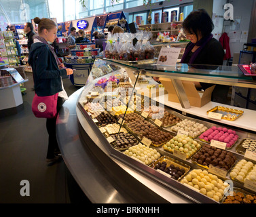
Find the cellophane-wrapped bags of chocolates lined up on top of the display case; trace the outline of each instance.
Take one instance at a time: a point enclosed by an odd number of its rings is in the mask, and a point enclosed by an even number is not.
[[[137,61],[153,59],[155,57],[155,49],[149,42],[151,39],[150,32],[133,33],[115,33],[108,34],[107,45],[105,48],[105,57],[107,59]],[[132,41],[139,38],[134,46]],[[146,41],[145,44],[142,41]]]

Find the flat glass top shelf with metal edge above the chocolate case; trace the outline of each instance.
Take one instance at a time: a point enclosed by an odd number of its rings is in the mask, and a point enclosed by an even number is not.
[[[256,88],[256,77],[244,75],[238,66],[212,66],[181,63],[177,63],[176,66],[162,66],[156,64],[156,60],[151,60],[149,64],[145,64],[145,62],[141,62],[142,64],[140,64],[139,61],[124,62],[120,60],[100,59],[139,71],[140,75]]]

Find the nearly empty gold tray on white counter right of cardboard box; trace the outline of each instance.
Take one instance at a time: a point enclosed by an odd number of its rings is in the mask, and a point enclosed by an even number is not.
[[[234,121],[238,119],[238,117],[241,117],[244,113],[244,111],[238,109],[230,109],[224,106],[215,106],[213,109],[207,111],[207,114],[210,112],[222,114],[221,119],[225,119],[227,121]]]

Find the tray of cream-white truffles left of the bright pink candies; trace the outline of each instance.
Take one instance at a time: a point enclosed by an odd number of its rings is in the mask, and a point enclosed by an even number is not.
[[[171,130],[173,132],[179,132],[179,130],[187,132],[190,138],[196,138],[200,136],[200,134],[205,132],[207,129],[208,127],[206,127],[206,125],[204,125],[203,123],[192,121],[189,119],[184,119],[183,121],[171,127]]]

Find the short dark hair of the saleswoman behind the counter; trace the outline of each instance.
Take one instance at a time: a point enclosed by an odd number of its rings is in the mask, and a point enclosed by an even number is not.
[[[191,12],[183,22],[183,30],[189,34],[196,34],[197,38],[198,32],[201,33],[202,37],[206,37],[211,34],[213,28],[213,20],[205,9]]]

